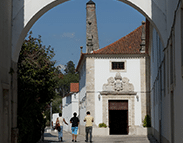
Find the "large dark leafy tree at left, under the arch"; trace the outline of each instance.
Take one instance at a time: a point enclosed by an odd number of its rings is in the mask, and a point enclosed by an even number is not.
[[[41,137],[44,111],[56,95],[58,83],[54,51],[42,45],[41,37],[25,40],[18,61],[19,143],[37,142]]]

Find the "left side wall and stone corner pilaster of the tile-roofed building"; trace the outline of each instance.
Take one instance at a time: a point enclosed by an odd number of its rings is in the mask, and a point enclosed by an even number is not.
[[[85,134],[85,122],[84,117],[86,116],[86,112],[90,111],[90,114],[94,117],[95,126],[95,64],[94,58],[86,58],[84,64],[82,64],[81,68],[79,69],[80,81],[79,84],[82,85],[80,89],[84,89],[80,92],[80,105],[79,105],[79,112],[80,112],[80,125],[79,125],[79,132],[80,134]]]

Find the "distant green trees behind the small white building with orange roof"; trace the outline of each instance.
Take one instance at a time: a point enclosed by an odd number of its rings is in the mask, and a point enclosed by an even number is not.
[[[69,61],[65,67],[65,73],[62,74],[62,79],[59,81],[59,89],[62,96],[70,92],[70,83],[79,82],[79,74],[75,71],[75,64]]]

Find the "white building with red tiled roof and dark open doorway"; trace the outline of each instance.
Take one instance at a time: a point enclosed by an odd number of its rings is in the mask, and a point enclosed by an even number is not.
[[[94,135],[147,134],[142,121],[149,114],[149,57],[142,50],[142,31],[144,23],[111,45],[81,54],[77,66],[81,134],[86,111],[94,117]],[[103,132],[100,123],[108,126]]]

